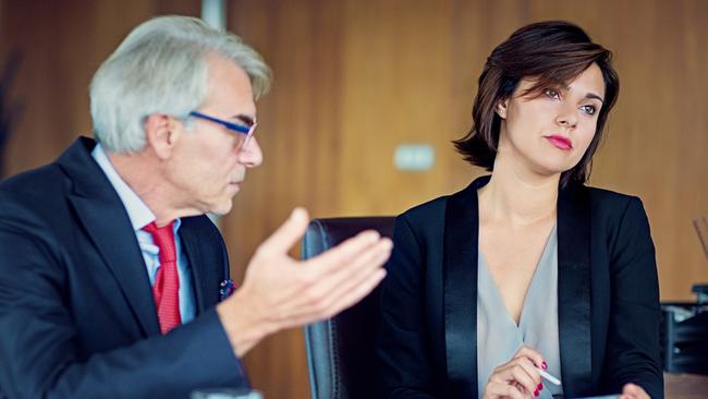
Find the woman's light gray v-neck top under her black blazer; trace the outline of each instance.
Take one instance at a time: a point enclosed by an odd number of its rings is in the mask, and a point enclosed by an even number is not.
[[[541,254],[524,299],[518,326],[511,317],[477,251],[477,387],[481,398],[495,367],[506,363],[525,344],[546,359],[551,375],[561,378],[558,340],[558,235],[556,227]],[[542,380],[539,398],[561,395],[562,387]]]

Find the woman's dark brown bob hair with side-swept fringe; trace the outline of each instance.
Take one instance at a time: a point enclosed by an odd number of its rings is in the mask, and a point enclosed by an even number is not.
[[[593,155],[602,138],[602,129],[620,90],[620,80],[612,69],[612,53],[595,44],[577,25],[563,21],[538,22],[514,32],[487,59],[479,76],[479,90],[472,109],[474,124],[455,148],[466,161],[492,170],[501,119],[496,107],[511,98],[523,77],[536,80],[527,94],[546,87],[564,87],[593,63],[602,71],[605,100],[597,119],[597,130],[583,158],[561,174],[561,186],[585,183],[590,176]]]

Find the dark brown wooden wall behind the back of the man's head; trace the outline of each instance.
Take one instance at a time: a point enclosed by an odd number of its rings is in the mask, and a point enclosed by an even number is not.
[[[200,12],[199,0],[0,1],[0,65],[13,50],[21,57],[10,100],[22,113],[8,143],[8,174],[49,162],[76,136],[90,135],[90,78],[135,25]]]

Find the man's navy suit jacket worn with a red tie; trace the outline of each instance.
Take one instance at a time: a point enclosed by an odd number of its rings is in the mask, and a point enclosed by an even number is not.
[[[246,386],[213,310],[229,275],[218,230],[205,216],[182,219],[198,315],[160,335],[135,233],[94,146],[80,138],[0,184],[0,392],[186,398]]]

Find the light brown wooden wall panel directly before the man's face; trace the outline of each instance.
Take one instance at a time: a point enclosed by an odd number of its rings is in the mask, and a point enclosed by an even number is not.
[[[232,269],[245,263],[295,205],[338,215],[341,156],[341,35],[337,2],[231,3],[230,25],[273,68],[272,92],[259,102],[264,166],[249,171],[234,209],[222,219]],[[261,129],[263,126],[263,129]],[[298,256],[295,249],[294,256]],[[301,329],[267,338],[245,358],[252,383],[267,398],[308,396]]]

